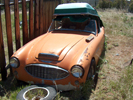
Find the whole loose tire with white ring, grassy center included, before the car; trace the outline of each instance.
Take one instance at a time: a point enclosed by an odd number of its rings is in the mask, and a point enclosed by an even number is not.
[[[21,90],[17,95],[17,100],[53,100],[56,90],[53,87],[42,87],[31,85]]]

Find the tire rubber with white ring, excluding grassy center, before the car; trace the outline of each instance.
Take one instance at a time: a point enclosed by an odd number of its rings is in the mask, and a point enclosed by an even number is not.
[[[31,86],[28,86],[26,88],[24,88],[23,90],[21,90],[16,99],[17,100],[28,100],[26,99],[26,94],[31,91],[31,90],[35,90],[35,89],[42,89],[42,90],[45,90],[47,91],[47,94],[45,97],[40,97],[40,96],[34,96],[30,99],[32,100],[53,100],[56,96],[56,90],[53,88],[53,87],[50,87],[50,86],[41,86],[41,85],[31,85]]]

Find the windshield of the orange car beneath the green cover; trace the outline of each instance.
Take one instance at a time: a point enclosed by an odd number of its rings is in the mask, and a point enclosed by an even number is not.
[[[95,20],[85,19],[72,19],[70,17],[55,18],[48,31],[53,30],[71,30],[71,31],[85,31],[96,34]]]

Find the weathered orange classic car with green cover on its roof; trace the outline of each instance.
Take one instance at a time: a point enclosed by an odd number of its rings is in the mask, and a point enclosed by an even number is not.
[[[93,77],[104,46],[104,27],[87,3],[60,4],[46,34],[10,59],[17,80],[67,91]]]

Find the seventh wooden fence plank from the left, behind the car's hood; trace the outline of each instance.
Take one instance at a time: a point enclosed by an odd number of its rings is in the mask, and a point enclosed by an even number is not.
[[[40,15],[39,15],[39,21],[40,21],[40,35],[43,34],[43,0],[40,0],[40,8],[39,8],[39,11],[40,11]]]

